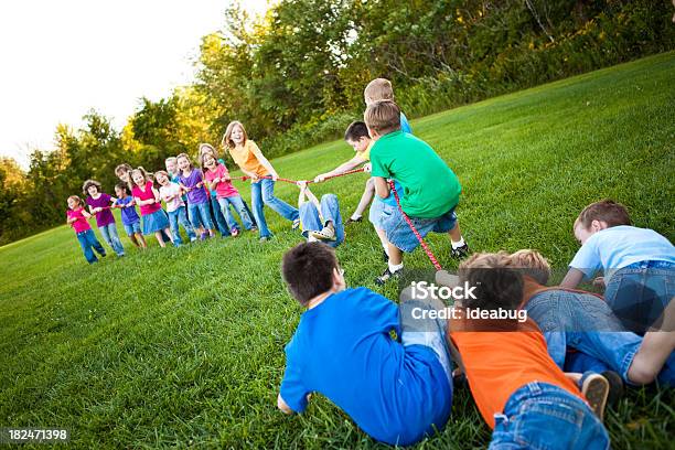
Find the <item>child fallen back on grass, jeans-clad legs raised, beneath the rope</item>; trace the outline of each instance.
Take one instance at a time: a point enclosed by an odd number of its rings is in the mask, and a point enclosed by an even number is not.
[[[307,181],[299,181],[300,195],[298,211],[302,236],[308,242],[320,240],[331,247],[338,247],[344,240],[344,225],[340,215],[340,204],[335,194],[325,194],[321,203],[307,186]],[[310,201],[307,202],[306,197]]]

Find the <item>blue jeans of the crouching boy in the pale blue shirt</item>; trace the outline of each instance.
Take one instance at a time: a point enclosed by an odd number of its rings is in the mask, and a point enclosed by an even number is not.
[[[657,322],[675,296],[675,265],[666,261],[643,261],[612,274],[604,299],[623,325],[644,333]],[[673,331],[673,330],[666,330]]]

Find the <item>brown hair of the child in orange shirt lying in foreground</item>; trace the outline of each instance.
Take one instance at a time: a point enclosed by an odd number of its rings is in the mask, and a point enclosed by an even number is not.
[[[471,255],[460,264],[459,277],[475,287],[475,299],[464,299],[464,307],[515,310],[523,299],[523,277],[505,251]]]

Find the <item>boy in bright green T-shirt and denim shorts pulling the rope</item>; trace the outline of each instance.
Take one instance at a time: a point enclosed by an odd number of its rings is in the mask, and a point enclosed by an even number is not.
[[[454,208],[461,185],[448,164],[427,144],[413,135],[400,131],[400,110],[394,101],[382,100],[368,106],[365,122],[374,141],[371,150],[372,176],[381,199],[392,193],[387,179],[403,186],[403,213],[409,217],[421,237],[429,232],[448,233],[451,255],[463,257],[469,246],[461,236]],[[388,242],[388,267],[375,282],[385,283],[398,277],[403,269],[403,251],[419,245],[400,208],[396,207],[382,221]]]

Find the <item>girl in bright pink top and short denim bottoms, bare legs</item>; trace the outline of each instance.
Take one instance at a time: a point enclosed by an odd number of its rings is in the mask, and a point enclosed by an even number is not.
[[[154,233],[160,247],[165,247],[162,237],[162,232],[164,232],[173,243],[170,236],[169,219],[167,218],[167,213],[162,210],[159,192],[152,185],[152,181],[148,180],[146,170],[143,168],[132,170],[131,180],[136,184],[131,194],[136,204],[140,206],[141,216],[143,217],[143,234]]]

